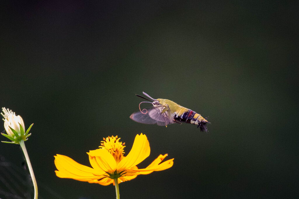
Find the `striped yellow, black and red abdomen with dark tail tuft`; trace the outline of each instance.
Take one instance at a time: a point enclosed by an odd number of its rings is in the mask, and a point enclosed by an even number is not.
[[[191,109],[187,109],[181,106],[179,107],[181,109],[174,113],[174,119],[176,121],[196,124],[198,125],[198,127],[200,127],[201,131],[207,131],[206,124],[210,123],[206,120],[207,118],[203,118],[200,114],[194,112]]]

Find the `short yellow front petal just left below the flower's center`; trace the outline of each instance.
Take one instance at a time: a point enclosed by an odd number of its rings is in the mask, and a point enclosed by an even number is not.
[[[113,173],[117,164],[114,157],[106,149],[96,149],[89,151],[89,162],[91,166],[100,171],[106,171],[108,173]]]

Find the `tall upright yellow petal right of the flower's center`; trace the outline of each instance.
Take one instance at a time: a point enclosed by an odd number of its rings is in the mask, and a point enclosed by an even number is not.
[[[149,153],[150,148],[147,136],[142,133],[136,135],[131,151],[118,163],[117,170],[123,171],[139,164],[149,156]]]

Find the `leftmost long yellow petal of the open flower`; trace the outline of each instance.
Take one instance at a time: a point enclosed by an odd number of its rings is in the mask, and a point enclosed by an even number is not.
[[[102,178],[102,175],[106,174],[104,171],[96,171],[93,168],[81,165],[64,155],[57,154],[57,156],[54,157],[54,163],[58,170],[55,172],[56,175],[61,178],[73,178],[75,180],[88,181],[92,179],[100,179]],[[94,173],[96,173],[97,176],[95,176]]]

